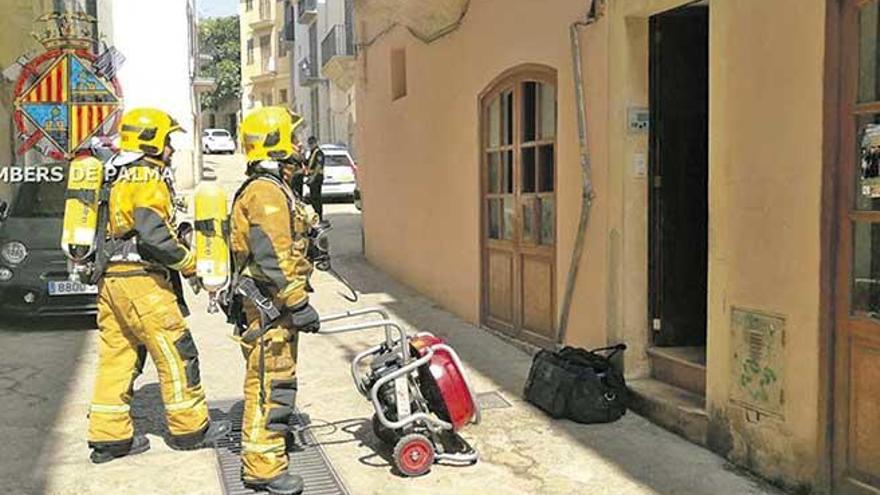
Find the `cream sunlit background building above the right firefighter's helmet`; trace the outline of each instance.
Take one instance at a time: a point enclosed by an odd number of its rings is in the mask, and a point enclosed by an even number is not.
[[[288,0],[242,0],[242,112],[272,105],[293,108],[293,5]]]

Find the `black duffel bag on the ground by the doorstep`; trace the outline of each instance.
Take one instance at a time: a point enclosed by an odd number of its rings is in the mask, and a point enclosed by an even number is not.
[[[625,344],[587,351],[540,351],[529,371],[525,399],[553,418],[610,423],[626,413],[626,382],[611,365]],[[604,354],[602,354],[604,353]]]

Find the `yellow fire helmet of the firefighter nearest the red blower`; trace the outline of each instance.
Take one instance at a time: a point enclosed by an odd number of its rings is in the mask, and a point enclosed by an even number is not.
[[[248,163],[287,160],[299,151],[296,128],[302,117],[285,107],[263,107],[249,113],[241,123],[241,144]]]

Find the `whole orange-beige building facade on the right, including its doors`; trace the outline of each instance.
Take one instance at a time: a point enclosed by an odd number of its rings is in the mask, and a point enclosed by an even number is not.
[[[880,2],[355,3],[371,262],[625,342],[634,407],[780,485],[880,493]]]

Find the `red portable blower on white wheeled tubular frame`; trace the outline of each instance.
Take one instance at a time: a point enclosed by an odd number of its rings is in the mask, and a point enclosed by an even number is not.
[[[325,328],[338,334],[384,328],[385,341],[352,359],[355,387],[375,409],[373,432],[394,447],[404,476],[420,476],[437,461],[474,464],[478,454],[458,432],[480,422],[473,388],[458,353],[427,332],[407,335],[380,308],[332,315],[322,323],[376,315],[381,319]]]

